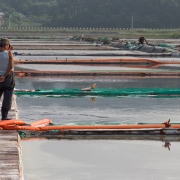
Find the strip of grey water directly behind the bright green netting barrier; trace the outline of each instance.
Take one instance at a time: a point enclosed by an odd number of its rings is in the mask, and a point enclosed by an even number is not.
[[[179,88],[180,78],[122,78],[122,77],[36,77],[17,78],[16,89],[84,88]]]

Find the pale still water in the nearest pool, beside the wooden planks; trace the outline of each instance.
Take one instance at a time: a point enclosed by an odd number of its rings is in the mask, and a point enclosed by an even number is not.
[[[22,141],[26,180],[178,180],[179,142]]]

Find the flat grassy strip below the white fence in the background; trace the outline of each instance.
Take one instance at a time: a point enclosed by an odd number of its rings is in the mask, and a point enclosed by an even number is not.
[[[62,28],[56,28],[56,29],[22,29],[22,28],[6,28],[6,29],[0,29],[1,36],[9,37],[9,38],[53,38],[53,39],[59,39],[62,38],[62,36],[73,36],[74,40],[80,40],[83,39],[88,42],[96,42],[100,38],[101,41],[105,41],[105,43],[108,43],[108,40],[111,38],[114,41],[117,39],[131,39],[135,38],[137,39],[139,36],[143,35],[148,39],[180,39],[180,30],[139,30],[139,29],[133,29],[133,30],[87,30],[87,29],[62,29]],[[103,39],[104,38],[104,39]]]

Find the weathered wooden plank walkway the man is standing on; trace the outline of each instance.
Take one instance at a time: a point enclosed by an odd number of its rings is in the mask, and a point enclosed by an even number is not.
[[[0,101],[0,105],[1,105]],[[17,118],[16,96],[9,116]],[[0,130],[0,180],[23,180],[20,138],[17,131]]]

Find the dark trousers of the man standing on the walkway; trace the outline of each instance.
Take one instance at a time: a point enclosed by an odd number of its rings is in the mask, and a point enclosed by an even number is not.
[[[0,82],[0,98],[4,93],[2,100],[1,115],[2,119],[6,119],[12,105],[12,97],[14,94],[15,78],[13,71],[5,78],[4,82]]]

